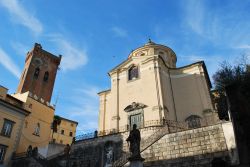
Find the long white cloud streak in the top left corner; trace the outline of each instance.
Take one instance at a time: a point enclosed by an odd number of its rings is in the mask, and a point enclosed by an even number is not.
[[[21,24],[36,34],[43,31],[41,22],[26,10],[17,0],[0,0],[0,4],[5,7],[15,22]]]

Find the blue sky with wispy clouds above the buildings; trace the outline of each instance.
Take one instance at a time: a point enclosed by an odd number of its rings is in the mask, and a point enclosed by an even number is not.
[[[97,128],[97,92],[107,72],[150,37],[177,54],[177,66],[204,60],[210,78],[220,62],[250,55],[249,0],[0,0],[0,85],[16,91],[34,43],[63,55],[52,103],[56,114]]]

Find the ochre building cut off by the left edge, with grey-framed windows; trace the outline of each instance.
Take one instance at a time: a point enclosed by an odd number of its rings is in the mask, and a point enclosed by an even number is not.
[[[18,146],[30,114],[26,104],[7,94],[8,89],[0,86],[0,166],[7,166]]]

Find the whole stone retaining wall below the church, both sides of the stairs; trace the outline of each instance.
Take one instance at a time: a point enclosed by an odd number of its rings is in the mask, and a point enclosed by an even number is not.
[[[145,158],[144,166],[211,166],[211,162],[215,157],[222,158],[232,164],[232,159],[237,158],[237,156],[231,157],[230,152],[235,148],[232,148],[232,144],[230,147],[227,145],[227,135],[224,135],[225,127],[222,126],[223,124],[219,123],[212,126],[166,134],[142,152],[142,157]],[[231,128],[231,122],[227,123],[227,126]],[[160,128],[147,127],[141,129],[142,140]],[[125,141],[128,134],[129,132],[124,132],[75,143],[72,147],[73,154],[71,157],[77,160],[72,161],[71,164],[75,163],[78,166],[88,164],[91,167],[105,166],[104,164],[107,161],[107,146],[114,148],[112,160],[117,160],[123,152],[128,152],[128,144]],[[230,138],[232,141],[232,135]],[[234,142],[234,138],[232,142]],[[92,162],[99,162],[99,164]],[[234,161],[234,163],[237,164],[237,161]]]

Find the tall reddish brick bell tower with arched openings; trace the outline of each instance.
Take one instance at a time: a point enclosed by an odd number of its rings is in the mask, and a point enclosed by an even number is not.
[[[27,53],[17,93],[30,91],[45,102],[50,102],[61,58],[61,55],[57,57],[35,43]]]

